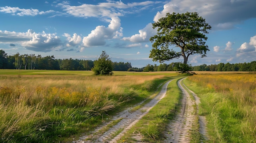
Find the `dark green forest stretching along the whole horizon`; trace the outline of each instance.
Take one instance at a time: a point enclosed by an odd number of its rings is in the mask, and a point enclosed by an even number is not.
[[[7,55],[0,50],[0,69],[26,69],[26,70],[91,70],[94,61],[84,59],[55,59],[54,55],[42,57],[35,54]],[[143,68],[132,67],[130,62],[112,62],[114,71],[178,71],[179,62],[159,65],[148,64]],[[191,71],[256,71],[256,61],[250,63],[219,63],[191,66]]]

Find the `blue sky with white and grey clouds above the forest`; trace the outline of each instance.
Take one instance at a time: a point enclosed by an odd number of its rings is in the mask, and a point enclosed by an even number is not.
[[[212,26],[207,57],[188,64],[256,60],[256,0],[1,0],[0,49],[8,55],[92,59],[102,51],[113,62],[141,68],[156,34],[152,23],[166,13],[198,12]],[[178,49],[177,49],[178,50]],[[183,58],[164,62],[183,62]]]

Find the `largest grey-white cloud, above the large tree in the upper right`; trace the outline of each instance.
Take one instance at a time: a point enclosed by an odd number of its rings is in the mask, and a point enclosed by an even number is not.
[[[166,13],[196,11],[213,29],[231,29],[235,24],[255,18],[256,13],[252,13],[255,5],[255,0],[171,0],[162,11],[157,12],[154,21],[165,17]]]

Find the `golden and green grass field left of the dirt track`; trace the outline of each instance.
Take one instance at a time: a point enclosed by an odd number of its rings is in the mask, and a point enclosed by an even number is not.
[[[123,106],[143,101],[171,72],[0,70],[0,142],[49,143],[91,130]],[[117,108],[118,107],[118,108]]]

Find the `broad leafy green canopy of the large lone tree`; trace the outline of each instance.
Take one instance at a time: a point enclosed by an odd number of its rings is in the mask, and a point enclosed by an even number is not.
[[[166,17],[152,25],[153,29],[158,28],[157,35],[150,37],[154,43],[149,57],[153,61],[161,63],[182,56],[183,64],[187,64],[189,55],[200,54],[205,57],[206,52],[210,51],[205,45],[205,33],[208,33],[211,26],[196,12],[166,13]],[[180,48],[180,51],[174,48]]]

